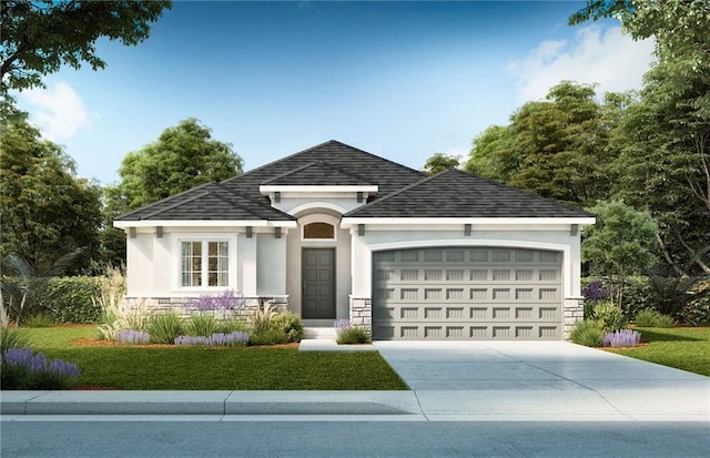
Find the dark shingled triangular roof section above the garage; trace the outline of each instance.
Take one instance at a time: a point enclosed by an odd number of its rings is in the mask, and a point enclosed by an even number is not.
[[[594,217],[549,199],[449,169],[344,215],[392,217]]]

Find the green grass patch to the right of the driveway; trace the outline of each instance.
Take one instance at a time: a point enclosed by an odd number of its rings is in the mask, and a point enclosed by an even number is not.
[[[638,327],[646,347],[613,350],[643,359],[710,376],[710,327],[647,328]]]

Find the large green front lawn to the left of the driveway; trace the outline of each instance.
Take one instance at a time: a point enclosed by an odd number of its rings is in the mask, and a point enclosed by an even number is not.
[[[407,389],[376,352],[74,346],[95,327],[23,329],[32,347],[78,365],[78,384],[119,389]]]

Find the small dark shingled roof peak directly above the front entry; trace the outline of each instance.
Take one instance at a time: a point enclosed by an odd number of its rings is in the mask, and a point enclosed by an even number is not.
[[[262,185],[270,186],[369,186],[372,182],[359,176],[354,171],[346,171],[324,161],[307,163],[301,167],[283,173]]]

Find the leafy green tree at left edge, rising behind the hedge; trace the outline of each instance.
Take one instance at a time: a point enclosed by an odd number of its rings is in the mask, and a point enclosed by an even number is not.
[[[3,114],[1,121],[0,255],[13,254],[44,272],[83,248],[85,264],[99,250],[99,186],[75,176],[71,159],[41,138],[27,113]]]

